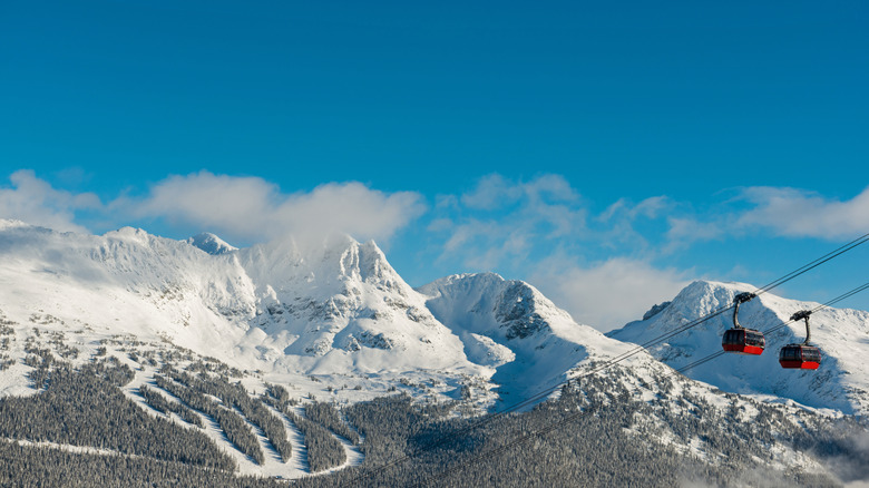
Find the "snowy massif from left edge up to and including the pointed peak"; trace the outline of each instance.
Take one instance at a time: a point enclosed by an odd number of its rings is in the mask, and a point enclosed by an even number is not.
[[[215,236],[2,221],[0,310],[21,323],[50,314],[107,335],[165,338],[251,370],[476,372],[377,245],[350,237],[233,250]]]

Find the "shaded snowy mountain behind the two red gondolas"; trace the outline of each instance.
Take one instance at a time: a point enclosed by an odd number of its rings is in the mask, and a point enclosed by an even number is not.
[[[733,303],[738,293],[754,290],[755,286],[744,283],[697,281],[657,313],[647,313],[645,320],[632,322],[608,335],[642,344]],[[818,305],[765,293],[740,308],[740,323],[764,331],[788,322],[799,310]],[[651,352],[678,369],[720,351],[722,334],[731,326],[732,312],[728,311],[652,348]],[[767,334],[767,349],[760,357],[724,354],[686,374],[725,391],[774,396],[810,407],[866,414],[869,412],[869,362],[866,361],[869,312],[822,309],[812,314],[811,326],[812,344],[819,347],[823,355],[817,371],[784,370],[778,363],[782,345],[805,339],[805,326],[798,322]]]

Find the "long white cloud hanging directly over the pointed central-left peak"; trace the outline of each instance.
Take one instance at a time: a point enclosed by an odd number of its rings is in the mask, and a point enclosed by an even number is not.
[[[170,176],[154,185],[147,197],[119,201],[118,206],[138,217],[198,225],[244,241],[319,238],[334,232],[384,241],[426,211],[422,197],[413,192],[387,194],[352,182],[283,194],[258,177],[208,172]]]

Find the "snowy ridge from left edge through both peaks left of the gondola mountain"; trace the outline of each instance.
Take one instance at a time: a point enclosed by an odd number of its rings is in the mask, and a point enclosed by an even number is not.
[[[307,381],[315,375],[336,387],[338,401],[402,380],[411,394],[452,398],[473,385],[485,407],[492,389],[530,396],[577,363],[629,348],[496,274],[413,290],[377,244],[342,235],[234,248],[212,234],[174,241],[124,227],[97,236],[0,221],[0,312],[20,324],[80,324],[94,343],[169,341],[320,394],[324,385]]]

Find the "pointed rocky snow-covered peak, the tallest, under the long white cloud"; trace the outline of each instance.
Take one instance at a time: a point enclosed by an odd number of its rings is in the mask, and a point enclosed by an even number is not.
[[[256,316],[244,345],[291,369],[380,372],[470,365],[373,242],[292,240],[240,250]]]

